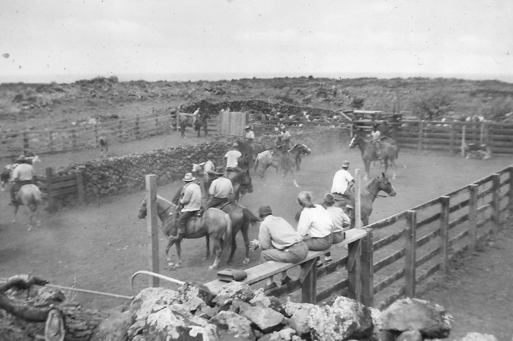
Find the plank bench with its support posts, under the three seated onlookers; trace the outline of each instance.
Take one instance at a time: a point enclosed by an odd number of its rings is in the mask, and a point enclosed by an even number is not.
[[[346,268],[348,270],[348,281],[349,289],[354,289],[354,297],[359,300],[358,287],[360,280],[359,269],[360,266],[355,266],[360,262],[360,242],[367,236],[368,231],[366,229],[350,229],[345,232],[345,239],[339,244],[332,245],[329,249],[324,251],[308,251],[306,259],[300,263],[281,263],[276,261],[268,261],[252,268],[245,269],[247,278],[242,283],[251,285],[263,281],[270,276],[278,274],[282,271],[291,269],[296,266],[301,266],[300,281],[302,290],[302,301],[308,303],[316,303],[315,291],[317,286],[317,266],[315,263],[319,257],[322,257],[326,252],[332,251],[333,249],[347,245],[348,248],[348,262]],[[217,294],[221,288],[226,285],[227,282],[220,280],[214,280],[205,283],[205,286],[210,290],[212,294]]]

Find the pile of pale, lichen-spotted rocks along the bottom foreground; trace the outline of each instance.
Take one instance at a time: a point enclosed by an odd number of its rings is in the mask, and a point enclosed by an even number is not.
[[[126,339],[132,341],[391,341],[445,338],[452,320],[443,307],[422,300],[400,300],[383,312],[344,296],[324,306],[282,303],[239,282],[226,284],[213,300],[200,296],[190,285],[178,291],[147,288],[133,300],[131,315],[120,314],[117,321],[130,325]],[[103,325],[103,337],[109,328],[119,330],[110,321]]]

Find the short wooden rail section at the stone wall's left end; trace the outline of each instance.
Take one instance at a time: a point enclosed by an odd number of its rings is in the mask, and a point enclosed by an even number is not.
[[[54,176],[52,168],[47,167],[45,175],[36,175],[35,180],[37,187],[41,189],[43,198],[48,199],[49,212],[57,210],[57,199],[65,195],[76,195],[78,204],[85,202],[84,182],[80,171],[74,175]]]

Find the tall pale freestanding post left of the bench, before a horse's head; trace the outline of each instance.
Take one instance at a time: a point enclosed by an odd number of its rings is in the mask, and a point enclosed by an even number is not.
[[[150,242],[148,243],[148,268],[159,273],[159,229],[157,228],[157,176],[146,176],[146,228]],[[159,286],[159,278],[150,276],[153,287]]]

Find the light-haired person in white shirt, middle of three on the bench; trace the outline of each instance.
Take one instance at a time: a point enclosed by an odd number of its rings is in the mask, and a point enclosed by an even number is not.
[[[323,251],[329,249],[333,241],[333,222],[324,207],[312,203],[311,197],[311,193],[307,191],[298,194],[298,202],[303,207],[298,222],[298,233],[308,246],[308,250]]]

